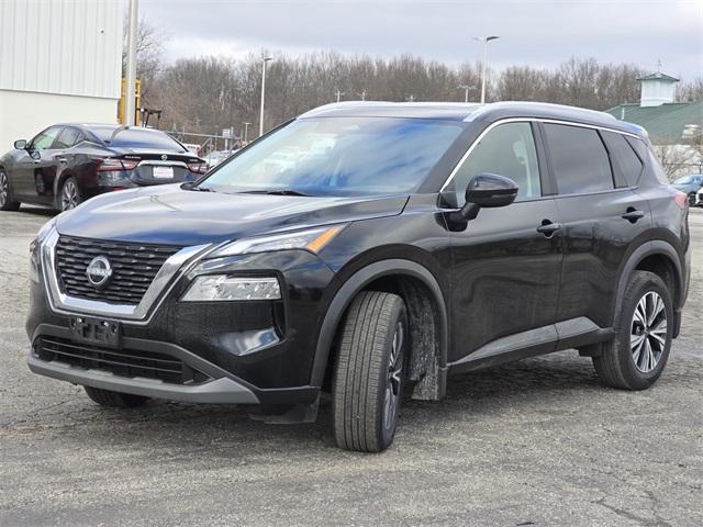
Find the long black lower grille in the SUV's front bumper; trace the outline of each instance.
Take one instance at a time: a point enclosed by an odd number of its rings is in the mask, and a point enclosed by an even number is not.
[[[48,336],[37,338],[34,351],[42,360],[56,360],[86,370],[104,370],[120,377],[158,379],[172,384],[208,380],[208,375],[180,359],[154,351],[109,349]]]

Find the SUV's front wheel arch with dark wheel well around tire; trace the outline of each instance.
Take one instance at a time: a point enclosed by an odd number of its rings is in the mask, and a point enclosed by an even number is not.
[[[410,318],[409,377],[414,399],[439,400],[446,390],[448,316],[438,281],[424,266],[404,259],[370,264],[349,277],[330,303],[320,326],[311,384],[324,386],[334,362],[337,329],[361,291],[384,291],[403,299]]]

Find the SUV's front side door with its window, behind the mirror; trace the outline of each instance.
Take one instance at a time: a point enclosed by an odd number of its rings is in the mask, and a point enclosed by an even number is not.
[[[516,201],[482,209],[453,228],[453,349],[467,358],[501,337],[551,326],[561,267],[559,217],[538,161],[535,125],[509,122],[490,128],[470,149],[443,193],[464,204],[470,179],[491,172],[514,180]]]

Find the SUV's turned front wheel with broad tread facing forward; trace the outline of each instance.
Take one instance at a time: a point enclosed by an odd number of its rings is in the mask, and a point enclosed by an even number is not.
[[[339,328],[332,384],[339,448],[380,452],[393,441],[409,335],[400,296],[364,291],[352,302]]]

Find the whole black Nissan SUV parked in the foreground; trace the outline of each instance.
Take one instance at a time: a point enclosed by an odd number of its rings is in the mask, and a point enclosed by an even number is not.
[[[31,249],[32,371],[105,406],[256,405],[379,451],[402,394],[576,348],[605,384],[667,362],[688,203],[643,128],[540,103],[342,103],[194,183],[100,195]]]

